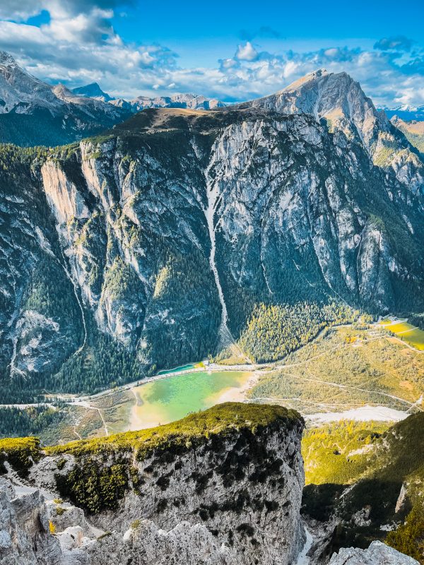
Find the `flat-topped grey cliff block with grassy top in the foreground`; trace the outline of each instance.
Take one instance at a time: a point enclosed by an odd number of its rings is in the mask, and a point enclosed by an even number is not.
[[[56,563],[293,563],[302,546],[302,427],[296,412],[230,403],[152,431],[53,449],[28,480],[64,499],[46,510],[30,495],[52,524],[57,537],[45,536],[55,551],[60,542]]]

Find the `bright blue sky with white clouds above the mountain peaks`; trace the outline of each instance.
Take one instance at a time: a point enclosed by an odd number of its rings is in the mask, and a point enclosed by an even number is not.
[[[0,49],[51,83],[246,100],[319,67],[424,104],[424,2],[3,0]]]

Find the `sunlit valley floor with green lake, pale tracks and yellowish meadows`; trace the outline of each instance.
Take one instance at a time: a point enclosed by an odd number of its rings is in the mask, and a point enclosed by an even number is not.
[[[309,425],[398,421],[422,410],[424,351],[406,341],[412,335],[424,348],[420,333],[399,319],[337,326],[280,362],[190,364],[94,395],[57,396],[64,417],[40,435],[50,444],[153,427],[228,400],[295,408]]]

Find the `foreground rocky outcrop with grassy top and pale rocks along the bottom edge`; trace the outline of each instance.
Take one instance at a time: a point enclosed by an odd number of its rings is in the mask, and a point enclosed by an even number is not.
[[[416,565],[381,542],[333,554],[337,518],[308,519],[304,529],[302,427],[293,410],[227,403],[151,430],[33,451],[20,475],[11,468],[23,460],[16,446],[25,451],[31,441],[8,440],[1,451],[7,478],[0,477],[0,561]],[[371,511],[367,505],[349,522],[381,535]]]

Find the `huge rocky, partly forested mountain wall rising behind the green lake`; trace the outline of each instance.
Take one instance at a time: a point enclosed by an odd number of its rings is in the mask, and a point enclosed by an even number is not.
[[[42,97],[53,116],[78,100],[122,112],[38,87],[13,115]],[[359,310],[423,311],[424,163],[346,73],[212,111],[145,109],[64,148],[3,146],[0,189],[8,398],[228,346],[275,359],[277,322],[293,350]]]

